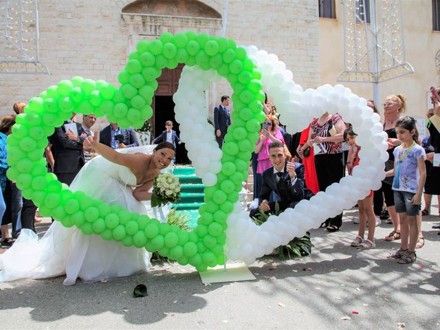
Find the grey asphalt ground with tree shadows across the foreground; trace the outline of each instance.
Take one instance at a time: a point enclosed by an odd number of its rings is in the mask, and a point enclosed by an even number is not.
[[[376,228],[377,248],[349,246],[357,210],[344,212],[340,232],[311,230],[311,256],[265,256],[255,281],[203,285],[192,267],[156,263],[151,272],[107,283],[63,276],[0,283],[4,329],[440,329],[438,206],[423,217],[426,238],[417,261],[399,265],[386,254],[392,225]],[[39,232],[47,228],[47,219]],[[133,298],[143,283],[148,296]]]

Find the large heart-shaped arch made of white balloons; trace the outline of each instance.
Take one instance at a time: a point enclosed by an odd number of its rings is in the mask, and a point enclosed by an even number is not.
[[[331,184],[325,192],[318,192],[309,201],[300,201],[294,209],[287,208],[278,216],[270,216],[262,225],[256,225],[248,212],[243,211],[241,203],[236,202],[234,211],[228,216],[225,250],[231,260],[252,263],[294,237],[304,236],[307,230],[318,227],[327,218],[353,207],[371,189],[380,188],[385,177],[388,145],[380,116],[366,106],[364,98],[342,85],[323,85],[303,91],[294,83],[292,72],[278,61],[275,54],[267,54],[255,46],[244,48],[260,69],[263,87],[283,115],[282,121],[289,133],[305,129],[313,118],[328,111],[339,113],[344,121],[353,125],[353,130],[358,133],[356,143],[362,146],[360,164],[352,175]],[[186,66],[173,96],[181,140],[186,143],[188,157],[205,186],[214,186],[217,182],[222,151],[214,140],[212,125],[207,122],[204,91],[220,79],[214,70]]]

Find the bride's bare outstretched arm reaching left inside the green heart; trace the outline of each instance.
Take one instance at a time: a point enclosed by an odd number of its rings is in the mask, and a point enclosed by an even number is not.
[[[143,159],[139,153],[118,153],[118,151],[115,151],[109,146],[100,143],[98,131],[95,131],[94,136],[88,136],[87,139],[84,140],[83,146],[85,148],[93,148],[97,153],[102,155],[102,157],[109,159],[110,162],[126,166],[128,168],[139,168],[145,161],[145,159]]]

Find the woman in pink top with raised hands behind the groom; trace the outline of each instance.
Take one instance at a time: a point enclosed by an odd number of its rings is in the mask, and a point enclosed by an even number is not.
[[[263,128],[260,131],[260,139],[256,142],[255,153],[259,155],[259,164],[256,167],[256,173],[263,173],[267,168],[272,166],[269,159],[269,146],[272,142],[281,142],[285,144],[283,134],[278,129],[278,120],[273,120],[271,115],[266,115],[266,120],[263,126],[267,125],[267,129]]]

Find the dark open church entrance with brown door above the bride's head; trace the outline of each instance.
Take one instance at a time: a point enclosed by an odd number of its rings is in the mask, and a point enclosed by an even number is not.
[[[157,90],[153,101],[153,135],[159,136],[165,130],[165,122],[171,120],[177,136],[180,135],[179,124],[175,120],[173,94],[179,87],[179,78],[184,65],[179,64],[175,69],[162,69],[162,76],[157,79]],[[176,163],[189,164],[185,144],[178,144]]]

